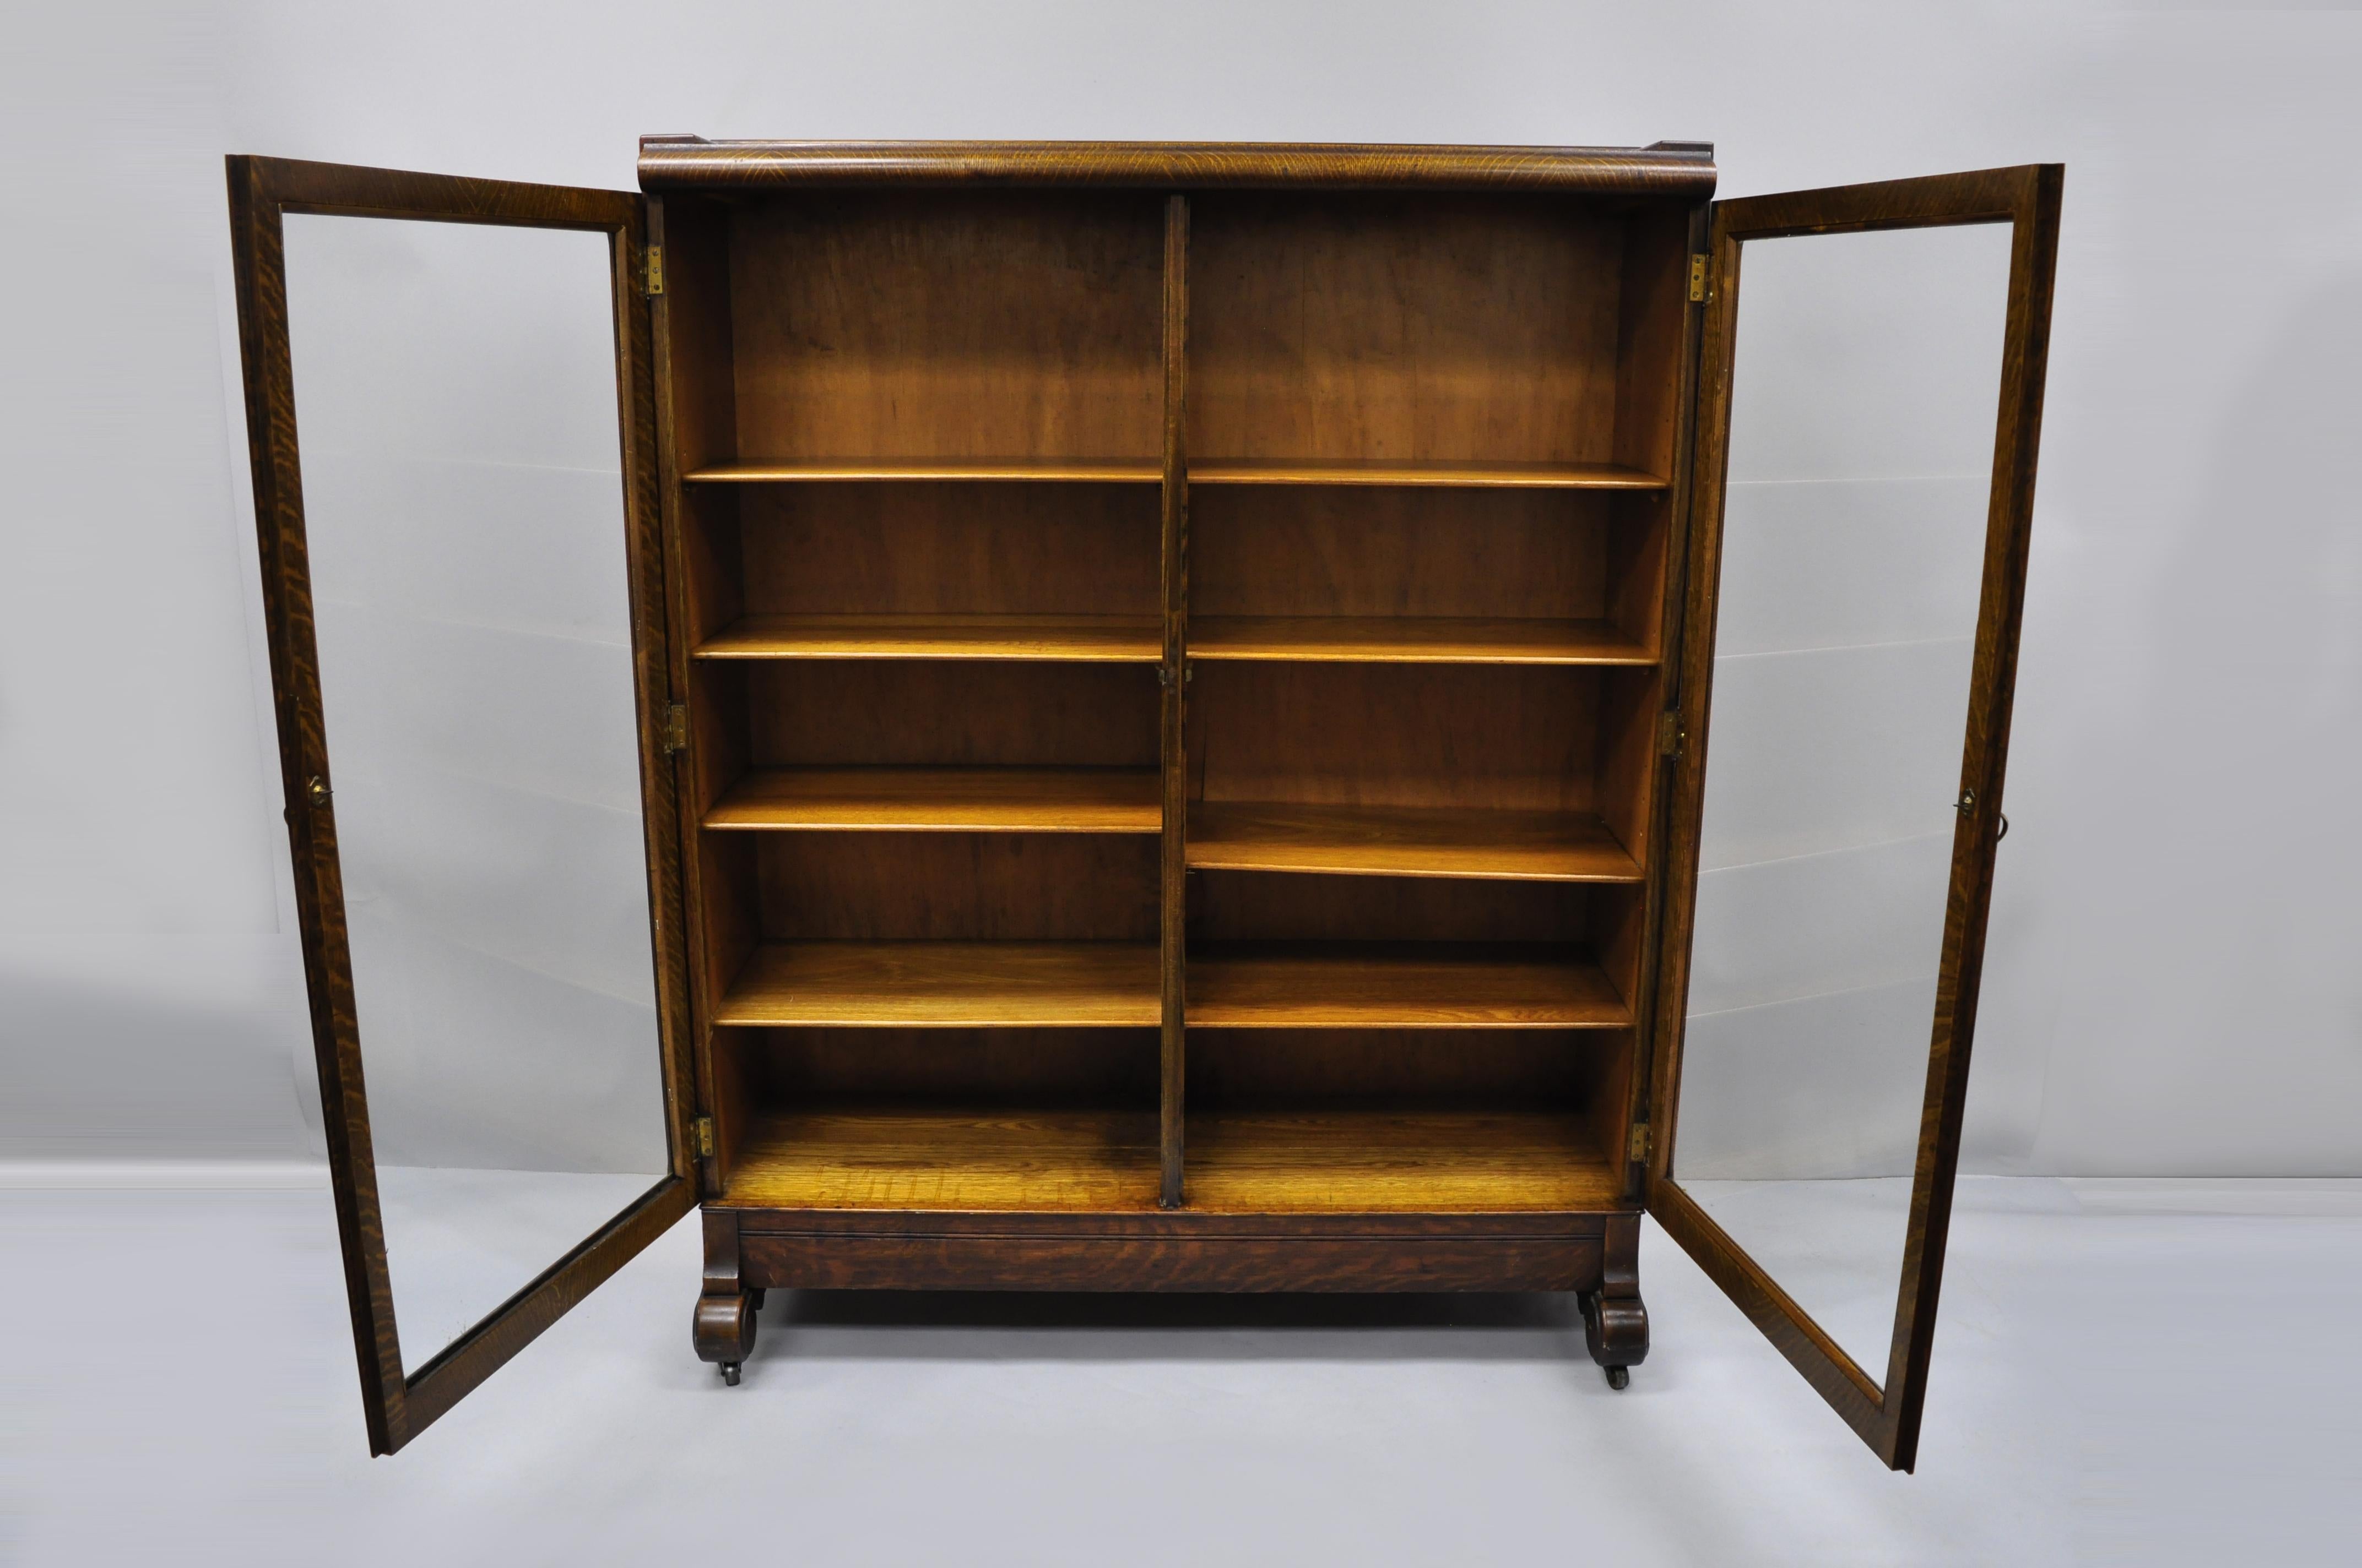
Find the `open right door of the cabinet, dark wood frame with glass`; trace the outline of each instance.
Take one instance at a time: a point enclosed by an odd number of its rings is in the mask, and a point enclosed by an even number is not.
[[[2060,179],[1724,201],[1705,274],[1649,1211],[1894,1469],[2008,831]]]

